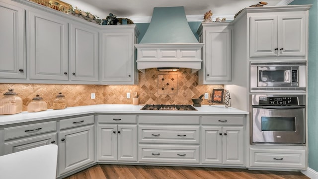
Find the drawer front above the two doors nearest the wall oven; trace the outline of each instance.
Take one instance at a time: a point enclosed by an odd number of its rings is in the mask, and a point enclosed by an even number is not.
[[[218,115],[218,116],[202,116],[202,125],[243,125],[244,116],[242,115]]]

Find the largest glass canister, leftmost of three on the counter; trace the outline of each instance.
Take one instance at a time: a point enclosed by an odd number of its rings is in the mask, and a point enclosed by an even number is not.
[[[22,99],[13,92],[13,89],[8,89],[9,92],[4,93],[4,97],[0,99],[0,115],[16,114],[22,112]]]

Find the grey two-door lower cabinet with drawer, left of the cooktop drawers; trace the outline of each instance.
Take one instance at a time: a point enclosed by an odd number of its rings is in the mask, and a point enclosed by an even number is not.
[[[136,122],[137,116],[135,115],[98,116],[98,162],[137,162]]]

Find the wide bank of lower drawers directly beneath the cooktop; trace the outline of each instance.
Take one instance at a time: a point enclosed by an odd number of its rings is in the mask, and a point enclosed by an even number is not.
[[[140,115],[138,161],[200,163],[200,116]]]

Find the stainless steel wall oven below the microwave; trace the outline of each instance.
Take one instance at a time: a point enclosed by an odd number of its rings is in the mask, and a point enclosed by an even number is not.
[[[251,144],[306,143],[306,95],[251,95]]]

